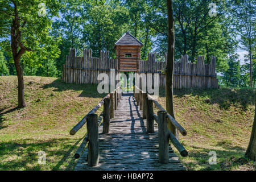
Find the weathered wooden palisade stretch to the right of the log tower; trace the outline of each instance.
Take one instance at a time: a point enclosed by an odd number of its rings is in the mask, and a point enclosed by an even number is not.
[[[159,73],[159,85],[166,86],[167,54],[164,61],[155,61],[155,53],[148,53],[148,60],[139,61],[138,73]],[[174,88],[218,88],[218,79],[215,71],[216,57],[212,56],[210,64],[204,64],[204,56],[197,56],[197,63],[188,61],[188,55],[181,56],[179,62],[174,63]]]

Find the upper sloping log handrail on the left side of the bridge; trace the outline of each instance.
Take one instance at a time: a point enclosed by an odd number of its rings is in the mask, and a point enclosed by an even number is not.
[[[116,88],[116,89],[115,89],[113,92],[111,92],[111,93],[114,93],[117,89],[119,89],[119,87]],[[76,126],[74,126],[74,127],[69,131],[69,134],[75,135],[75,134],[77,133],[77,131],[80,130],[81,127],[84,126],[84,124],[86,123],[87,116],[88,116],[89,114],[95,114],[96,111],[104,104],[105,98],[110,98],[110,93],[109,93],[108,95],[106,95],[104,98],[102,98],[102,100],[101,100],[91,111],[89,111],[89,113],[86,114],[85,117],[82,118],[81,121],[80,121],[79,123],[77,123]]]

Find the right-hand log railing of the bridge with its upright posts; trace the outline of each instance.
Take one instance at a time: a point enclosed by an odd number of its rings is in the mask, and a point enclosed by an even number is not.
[[[143,92],[137,86],[134,86],[134,98],[137,102],[137,105],[140,106],[140,109],[142,110],[143,118],[147,119],[147,132],[154,133],[154,121],[158,123],[159,162],[168,163],[169,161],[169,139],[180,152],[181,156],[187,156],[188,151],[185,150],[179,140],[177,140],[174,134],[172,134],[168,129],[167,118],[172,123],[172,125],[174,125],[176,129],[180,131],[182,135],[187,135],[187,131],[185,131],[185,129],[165,109],[163,109],[163,107],[156,100],[154,100],[146,92]],[[157,115],[154,114],[153,103],[159,109]]]

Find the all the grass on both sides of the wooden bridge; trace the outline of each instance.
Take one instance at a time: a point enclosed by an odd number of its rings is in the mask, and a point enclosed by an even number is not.
[[[97,85],[25,76],[27,107],[17,109],[17,86],[16,76],[0,77],[0,170],[73,170],[73,155],[86,127],[74,136],[69,135],[69,130],[105,94],[98,94]],[[165,107],[164,88],[159,92],[158,101]],[[255,170],[255,162],[243,157],[254,117],[253,89],[174,92],[175,118],[188,133],[180,135],[180,141],[189,156],[183,158],[175,150],[185,168]],[[210,104],[205,98],[210,98]],[[102,108],[97,114],[101,111]],[[212,150],[217,153],[216,165],[208,163]],[[38,164],[39,151],[46,152],[46,165]]]

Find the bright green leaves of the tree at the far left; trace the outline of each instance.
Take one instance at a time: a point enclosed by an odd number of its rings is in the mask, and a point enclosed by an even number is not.
[[[40,3],[46,6],[46,14],[44,14],[43,6],[39,5]],[[38,67],[42,60],[56,59],[59,56],[60,38],[53,38],[49,35],[52,18],[59,16],[59,1],[1,1],[0,6],[0,35],[2,36],[0,41],[8,55],[11,55],[10,28],[13,19],[16,18],[20,37],[13,41],[19,45],[17,51],[25,50],[20,59],[23,65]]]

